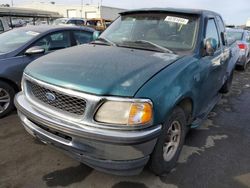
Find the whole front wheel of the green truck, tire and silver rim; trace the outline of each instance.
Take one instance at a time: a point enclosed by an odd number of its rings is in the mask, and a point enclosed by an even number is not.
[[[158,138],[151,155],[150,168],[156,175],[169,173],[177,163],[187,132],[186,117],[180,107],[176,107]]]

